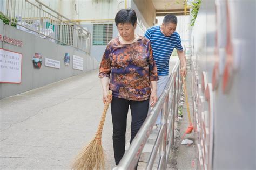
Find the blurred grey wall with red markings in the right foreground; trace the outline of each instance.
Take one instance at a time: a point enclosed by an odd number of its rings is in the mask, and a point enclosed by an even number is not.
[[[210,141],[199,159],[207,169],[256,169],[255,1],[216,2],[202,1],[192,32],[198,143]]]

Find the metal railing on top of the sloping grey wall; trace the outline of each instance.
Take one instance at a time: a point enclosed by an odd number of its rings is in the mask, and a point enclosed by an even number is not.
[[[8,6],[7,15],[10,18],[9,24],[15,23],[24,31],[28,30],[27,32],[39,37],[62,45],[70,45],[90,54],[90,32],[44,3],[38,0],[36,2],[39,5],[28,0],[8,0],[6,5]],[[16,16],[20,18],[13,19]],[[36,21],[38,21],[37,24]]]

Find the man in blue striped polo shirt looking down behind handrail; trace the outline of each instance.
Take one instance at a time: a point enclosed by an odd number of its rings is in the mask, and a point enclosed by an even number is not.
[[[180,74],[186,75],[186,57],[181,46],[180,36],[175,31],[177,26],[177,17],[168,14],[164,17],[161,26],[153,26],[148,29],[144,36],[150,40],[153,57],[157,65],[157,73],[159,80],[157,81],[157,97],[161,95],[164,90],[169,74],[169,59],[172,55],[173,49],[177,49],[179,60],[181,63]],[[161,115],[158,116],[156,125],[159,128],[161,124]]]

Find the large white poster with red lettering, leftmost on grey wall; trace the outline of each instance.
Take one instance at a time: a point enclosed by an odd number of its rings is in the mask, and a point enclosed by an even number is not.
[[[21,83],[22,54],[0,48],[0,83]]]

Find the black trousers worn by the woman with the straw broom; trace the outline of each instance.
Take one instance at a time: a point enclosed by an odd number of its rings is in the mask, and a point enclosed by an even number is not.
[[[111,102],[111,114],[113,123],[113,147],[116,165],[122,159],[125,152],[125,132],[129,105],[131,108],[131,140],[136,136],[149,111],[149,99],[144,101],[132,101],[113,97]]]

